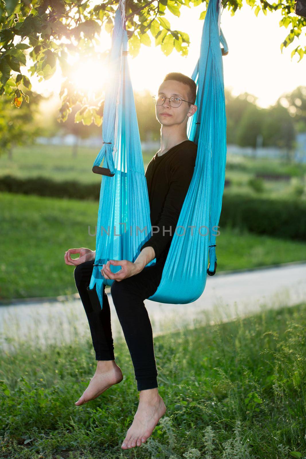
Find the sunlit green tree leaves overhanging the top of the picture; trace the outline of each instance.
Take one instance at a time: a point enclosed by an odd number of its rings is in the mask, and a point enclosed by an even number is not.
[[[208,2],[205,0],[150,0],[126,2],[126,28],[129,39],[129,53],[136,57],[141,45],[160,46],[168,56],[172,51],[187,56],[189,35],[174,30],[165,17],[167,11],[180,17],[182,8],[204,6],[199,19],[205,18]],[[281,50],[299,38],[306,27],[306,19],[294,13],[294,0],[282,3],[268,3],[266,0],[246,0],[256,16],[262,11],[281,10],[279,25],[289,28],[289,34],[282,42]],[[31,83],[24,74],[38,76],[39,81],[47,80],[61,67],[64,81],[61,87],[61,108],[58,120],[65,121],[72,107],[77,103],[81,108],[75,115],[75,122],[100,126],[102,122],[101,104],[103,94],[94,101],[81,90],[77,90],[67,77],[70,70],[68,56],[95,56],[106,59],[108,51],[98,53],[101,29],[111,34],[118,0],[106,0],[93,6],[89,0],[0,0],[0,95],[11,97],[12,104],[20,107],[32,95]],[[223,0],[233,16],[241,9],[242,0]],[[297,45],[291,58],[298,54],[300,60],[306,54],[306,47]],[[299,61],[300,62],[300,61]]]

